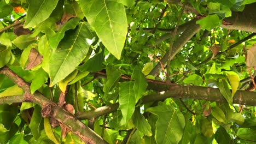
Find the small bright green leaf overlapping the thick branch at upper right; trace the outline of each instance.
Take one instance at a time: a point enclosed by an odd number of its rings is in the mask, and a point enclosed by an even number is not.
[[[208,15],[201,20],[196,21],[197,24],[200,25],[202,29],[207,29],[211,31],[214,27],[220,26],[222,21],[219,19],[217,14]]]

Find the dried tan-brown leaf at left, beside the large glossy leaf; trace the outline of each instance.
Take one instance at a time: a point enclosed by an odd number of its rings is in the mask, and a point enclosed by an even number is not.
[[[28,64],[27,64],[26,70],[33,69],[42,61],[43,61],[43,56],[40,55],[40,53],[36,49],[32,48],[30,51],[30,55],[28,56]]]

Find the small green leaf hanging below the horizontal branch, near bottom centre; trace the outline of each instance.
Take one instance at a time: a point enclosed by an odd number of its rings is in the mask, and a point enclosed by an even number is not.
[[[139,113],[139,109],[136,109],[132,116],[132,122],[135,127],[141,131],[144,135],[152,136],[151,126],[146,121],[144,116]]]

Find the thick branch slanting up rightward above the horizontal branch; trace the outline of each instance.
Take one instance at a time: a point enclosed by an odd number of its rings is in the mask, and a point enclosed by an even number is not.
[[[164,67],[167,65],[167,61],[171,61],[174,56],[182,49],[182,47],[189,41],[194,34],[196,34],[200,30],[200,26],[197,25],[196,19],[190,22],[189,28],[187,28],[179,37],[175,43],[173,44],[172,51],[168,51],[164,57],[162,57],[161,61],[156,64],[155,68],[149,73],[149,75],[156,76],[162,70],[161,64]]]

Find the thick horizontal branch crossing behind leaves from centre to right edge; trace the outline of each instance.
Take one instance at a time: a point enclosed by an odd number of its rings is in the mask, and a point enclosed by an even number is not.
[[[104,76],[104,75],[103,75]],[[160,93],[146,95],[142,99],[142,104],[150,103],[153,101],[165,100],[167,98],[188,98],[200,99],[208,101],[218,101],[220,103],[227,103],[226,99],[220,93],[218,88],[199,87],[199,86],[183,86],[173,83],[166,83],[156,80],[147,80],[148,89],[153,89]],[[252,105],[256,106],[255,92],[237,91],[233,98],[234,104]],[[99,116],[106,115],[111,112],[117,111],[119,103],[98,107],[95,110],[85,111],[78,113],[79,119],[94,119]]]

